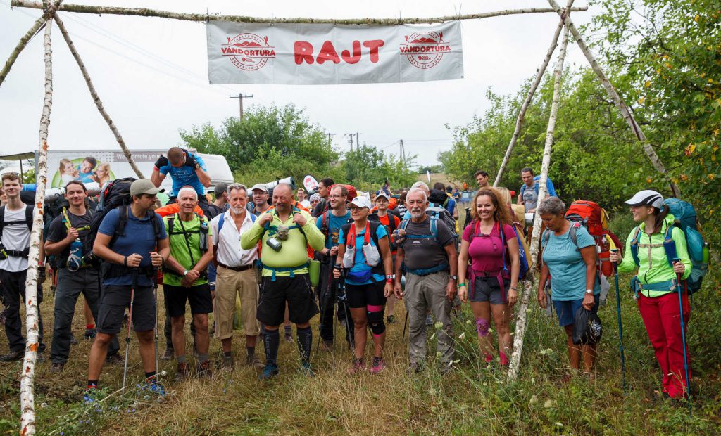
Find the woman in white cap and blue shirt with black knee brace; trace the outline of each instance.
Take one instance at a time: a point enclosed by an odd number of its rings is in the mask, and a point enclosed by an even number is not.
[[[348,209],[353,223],[340,228],[337,259],[342,259],[342,264],[335,264],[333,275],[340,278],[341,271],[345,270],[345,291],[355,326],[355,358],[350,372],[358,373],[366,368],[363,355],[370,326],[373,333],[371,373],[378,374],[386,368],[383,315],[395,280],[388,233],[379,221],[368,221],[371,202],[367,197],[355,197],[348,203]]]

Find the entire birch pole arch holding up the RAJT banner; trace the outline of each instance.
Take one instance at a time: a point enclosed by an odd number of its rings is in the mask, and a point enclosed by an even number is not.
[[[124,16],[138,16],[138,17],[160,17],[160,18],[166,18],[166,19],[178,19],[178,20],[185,20],[185,21],[195,21],[195,22],[208,22],[210,20],[216,20],[216,21],[229,21],[229,22],[249,22],[249,23],[326,23],[326,24],[336,24],[336,25],[404,25],[404,24],[426,24],[426,23],[438,23],[438,22],[446,22],[446,21],[454,21],[454,20],[468,20],[468,19],[482,19],[482,18],[489,18],[489,17],[503,17],[506,15],[513,15],[513,14],[536,14],[536,13],[552,13],[557,12],[560,17],[559,25],[557,26],[554,37],[552,38],[552,44],[549,47],[549,50],[547,51],[547,55],[544,58],[543,63],[541,64],[541,67],[538,68],[536,71],[536,79],[534,81],[534,85],[531,86],[531,89],[528,92],[528,96],[526,97],[526,102],[524,102],[522,107],[522,112],[518,116],[518,120],[516,123],[516,130],[513,133],[513,138],[511,139],[510,145],[508,150],[506,151],[503,164],[501,165],[500,171],[497,174],[495,184],[497,184],[500,180],[500,178],[503,176],[503,172],[505,170],[505,166],[508,164],[508,159],[510,159],[510,155],[513,152],[513,146],[516,143],[516,140],[518,139],[518,135],[521,130],[521,125],[523,122],[523,114],[525,113],[525,109],[528,107],[528,104],[530,104],[531,99],[534,97],[534,93],[536,91],[536,88],[541,81],[542,76],[544,75],[544,72],[547,69],[547,66],[549,64],[549,61],[552,57],[552,54],[554,53],[555,48],[557,47],[557,41],[559,38],[559,35],[562,30],[565,30],[563,43],[562,43],[562,50],[561,55],[559,55],[559,60],[557,61],[556,66],[556,73],[555,73],[555,82],[554,82],[554,101],[552,105],[552,111],[551,111],[551,117],[549,118],[549,128],[547,130],[547,138],[546,138],[546,144],[544,148],[544,160],[543,160],[543,166],[541,168],[541,182],[547,178],[548,174],[548,166],[550,163],[550,152],[551,152],[551,146],[553,142],[553,129],[555,125],[555,118],[557,114],[557,106],[558,106],[558,92],[559,92],[559,86],[560,86],[560,76],[562,73],[562,67],[563,67],[563,61],[565,58],[565,48],[567,44],[567,32],[570,31],[573,37],[575,38],[576,42],[580,46],[581,50],[583,50],[584,54],[586,55],[586,58],[588,58],[589,63],[591,64],[594,71],[596,71],[596,74],[598,75],[599,79],[601,79],[601,82],[603,83],[604,88],[606,88],[607,92],[611,94],[612,99],[614,99],[614,103],[616,103],[616,106],[619,107],[619,110],[622,112],[622,115],[624,115],[624,119],[627,120],[627,123],[631,126],[632,130],[634,130],[634,133],[637,135],[637,138],[639,141],[643,143],[644,150],[649,156],[649,158],[652,160],[655,168],[659,171],[665,174],[665,168],[663,167],[663,164],[660,163],[660,160],[658,159],[658,156],[655,156],[655,152],[653,152],[653,148],[651,148],[650,144],[647,143],[645,140],[645,136],[643,136],[642,131],[638,127],[637,123],[635,123],[635,120],[632,117],[632,114],[629,112],[627,107],[625,107],[623,100],[619,96],[619,94],[615,91],[613,86],[610,84],[608,79],[606,78],[605,74],[603,74],[603,71],[601,70],[601,67],[598,66],[598,62],[593,58],[593,55],[590,54],[590,51],[588,50],[588,47],[585,46],[585,43],[583,43],[583,38],[580,36],[580,33],[578,30],[575,29],[575,26],[570,21],[569,14],[570,12],[584,12],[588,10],[587,6],[581,6],[581,7],[572,7],[573,0],[567,0],[567,6],[565,9],[562,9],[558,4],[555,3],[554,0],[548,0],[549,5],[551,7],[549,8],[528,8],[528,9],[506,9],[503,11],[497,11],[497,12],[485,12],[481,14],[464,14],[464,15],[454,15],[454,16],[445,16],[445,17],[430,17],[430,18],[406,18],[406,19],[399,19],[399,18],[389,18],[389,19],[376,19],[376,18],[361,18],[361,19],[313,19],[313,18],[289,18],[289,19],[278,19],[278,18],[258,18],[258,17],[244,17],[244,16],[234,16],[234,15],[220,15],[220,14],[185,14],[185,13],[177,13],[177,12],[165,12],[165,11],[159,11],[155,9],[135,9],[135,8],[125,8],[125,7],[115,7],[115,6],[84,6],[84,5],[76,5],[76,4],[61,4],[61,1],[56,1],[54,4],[49,4],[47,1],[32,1],[32,0],[12,0],[12,6],[16,7],[24,7],[24,8],[30,8],[30,9],[42,9],[44,14],[43,17],[40,17],[37,19],[35,23],[30,27],[30,30],[26,32],[26,34],[21,38],[19,43],[17,44],[17,47],[13,50],[11,53],[8,61],[4,64],[4,68],[0,71],[0,86],[3,83],[5,77],[7,74],[9,74],[10,68],[12,68],[12,65],[17,60],[19,54],[22,52],[22,50],[27,45],[28,41],[32,39],[33,36],[37,35],[37,32],[39,32],[43,25],[45,26],[45,35],[43,40],[43,47],[45,52],[45,99],[43,102],[43,112],[42,117],[40,120],[40,134],[39,134],[39,141],[38,141],[38,159],[37,159],[37,191],[35,195],[35,212],[34,212],[34,221],[32,226],[32,232],[31,232],[31,246],[30,246],[30,255],[29,255],[29,264],[30,267],[28,268],[27,272],[27,282],[26,282],[26,324],[27,324],[27,348],[25,353],[25,359],[23,362],[23,370],[22,370],[22,378],[21,378],[21,434],[23,435],[33,435],[35,434],[35,404],[34,404],[34,397],[33,397],[33,383],[34,383],[34,370],[35,370],[35,360],[37,357],[37,346],[38,346],[38,326],[37,326],[37,314],[38,314],[38,308],[37,308],[37,301],[35,301],[36,298],[36,284],[37,284],[37,259],[39,257],[39,246],[40,246],[40,229],[42,227],[42,207],[43,207],[43,200],[44,200],[44,193],[45,193],[45,182],[47,179],[47,150],[48,150],[48,127],[50,124],[50,107],[52,106],[52,97],[53,97],[53,76],[52,76],[52,48],[50,43],[50,29],[51,25],[54,22],[58,25],[58,29],[60,29],[61,34],[63,35],[63,39],[68,45],[68,48],[71,50],[71,54],[73,55],[76,63],[78,64],[81,74],[86,81],[86,84],[88,86],[89,92],[92,96],[92,99],[94,103],[96,104],[96,107],[100,114],[102,115],[103,119],[107,123],[108,127],[112,131],[113,135],[115,136],[116,141],[118,142],[118,146],[120,146],[121,150],[125,154],[125,157],[128,159],[128,162],[131,164],[131,167],[136,172],[138,177],[143,177],[143,174],[139,171],[138,167],[136,166],[135,162],[133,161],[132,154],[128,150],[125,141],[123,141],[123,137],[120,135],[120,132],[118,131],[118,128],[115,126],[115,123],[112,122],[112,119],[105,111],[105,107],[102,104],[102,101],[100,100],[97,90],[94,88],[94,85],[92,84],[92,81],[90,79],[89,73],[87,71],[87,68],[85,67],[85,64],[81,60],[79,54],[77,53],[77,50],[72,43],[72,40],[70,38],[70,35],[68,34],[65,25],[63,24],[62,20],[58,17],[57,11],[63,11],[63,12],[74,12],[74,13],[84,13],[84,14],[117,14],[117,15],[124,15]],[[677,189],[677,188],[676,188]],[[539,198],[545,195],[545,184],[541,183],[539,192]],[[675,190],[674,192],[677,192]],[[534,221],[534,231],[533,231],[533,245],[536,247],[533,252],[532,258],[536,258],[536,254],[538,252],[538,239],[539,239],[539,233],[540,233],[540,220],[536,218]],[[530,293],[533,290],[533,282],[531,280],[528,280],[526,282],[525,291],[521,298],[521,305],[523,307],[523,319],[519,317],[519,320],[517,322],[516,326],[516,337],[514,339],[514,351],[513,355],[511,357],[511,369],[509,370],[508,378],[510,380],[515,380],[518,377],[518,368],[520,365],[521,360],[521,350],[523,347],[523,333],[526,330],[526,321],[525,321],[525,308],[528,306],[528,299],[530,298]],[[519,330],[519,326],[521,326],[521,329]],[[520,334],[519,334],[520,333]]]

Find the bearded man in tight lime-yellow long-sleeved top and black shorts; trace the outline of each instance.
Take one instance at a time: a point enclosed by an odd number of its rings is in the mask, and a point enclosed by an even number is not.
[[[262,243],[262,296],[257,319],[265,326],[265,368],[262,380],[278,375],[278,327],[283,324],[288,302],[288,317],[296,324],[296,341],[303,370],[312,375],[310,352],[313,342],[310,319],[318,313],[308,275],[308,252],[323,249],[323,234],[309,213],[293,207],[293,187],[281,183],[273,190],[273,210],[262,214],[249,231],[242,234],[243,249]]]

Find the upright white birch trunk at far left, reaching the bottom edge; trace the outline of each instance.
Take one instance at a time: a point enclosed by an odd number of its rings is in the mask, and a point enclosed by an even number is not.
[[[52,10],[48,12],[52,14]],[[40,232],[43,231],[43,201],[45,182],[48,177],[48,127],[50,126],[50,107],[53,106],[53,50],[50,46],[50,29],[53,18],[45,22],[45,101],[40,115],[40,138],[37,158],[37,190],[35,191],[35,211],[30,231],[30,253],[27,255],[27,280],[25,280],[25,357],[20,377],[20,434],[35,435],[35,359],[40,330],[37,326],[37,261],[40,257]]]

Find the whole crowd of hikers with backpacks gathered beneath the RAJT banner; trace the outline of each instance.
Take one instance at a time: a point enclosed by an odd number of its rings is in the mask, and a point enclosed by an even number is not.
[[[159,186],[167,174],[172,192],[161,204]],[[577,201],[567,207],[550,180],[548,196],[539,203],[539,177],[530,168],[521,172],[515,203],[513,192],[489,184],[487,172],[474,178],[478,189],[464,223],[459,197],[439,183],[431,189],[417,182],[399,192],[386,183],[368,196],[329,178],[319,181],[317,192],[294,191],[282,182],[250,188],[218,183],[213,198],[205,192],[211,179],[202,159],[177,147],[158,159],[151,179],[107,182],[97,202],[81,181],[71,180],[64,197],[46,205],[49,218],[40,245],[39,267],[45,267],[41,272],[50,277],[54,294],[50,370],[63,371],[77,342],[71,323],[80,294],[86,306],[84,337],[93,340],[88,401],[106,362],[125,365],[125,387],[131,329],[144,383],[161,395],[159,358],[174,358],[178,380],[232,369],[242,354],[232,347],[234,330],[245,337],[244,365],[270,379],[280,372],[280,326],[282,339],[293,342],[295,324],[299,370],[314,376],[310,323],[316,315],[316,351],[335,351],[340,328],[353,351],[350,373],[381,373],[386,324],[400,321],[394,313],[398,301],[407,313],[403,336],[407,327],[410,373],[427,368],[429,326],[435,326],[438,369],[454,370],[451,321],[463,316],[462,305],[469,301],[479,359],[504,367],[513,351],[510,324],[519,283],[534,263],[528,259],[531,227],[524,218],[531,214],[542,221],[538,303],[554,309],[567,335],[570,367],[593,378],[601,337],[596,311],[615,277],[622,328],[618,272],[636,270],[633,295],[660,365],[663,395],[688,397],[689,295],[699,288],[708,262],[691,205],[664,200],[653,190],[637,192],[626,202],[637,226],[624,245],[609,231],[600,206]],[[25,354],[20,306],[33,207],[22,203],[18,174],[4,174],[2,189],[0,280],[9,350],[0,361],[9,362]],[[38,305],[43,281],[37,283]],[[166,315],[161,357],[159,283]],[[188,306],[195,365],[186,350]],[[43,361],[48,357],[42,317],[38,323],[37,352]],[[125,358],[118,341],[123,329]],[[213,363],[211,334],[222,350]],[[259,339],[262,358],[256,354]],[[622,344],[621,352],[623,361]]]

